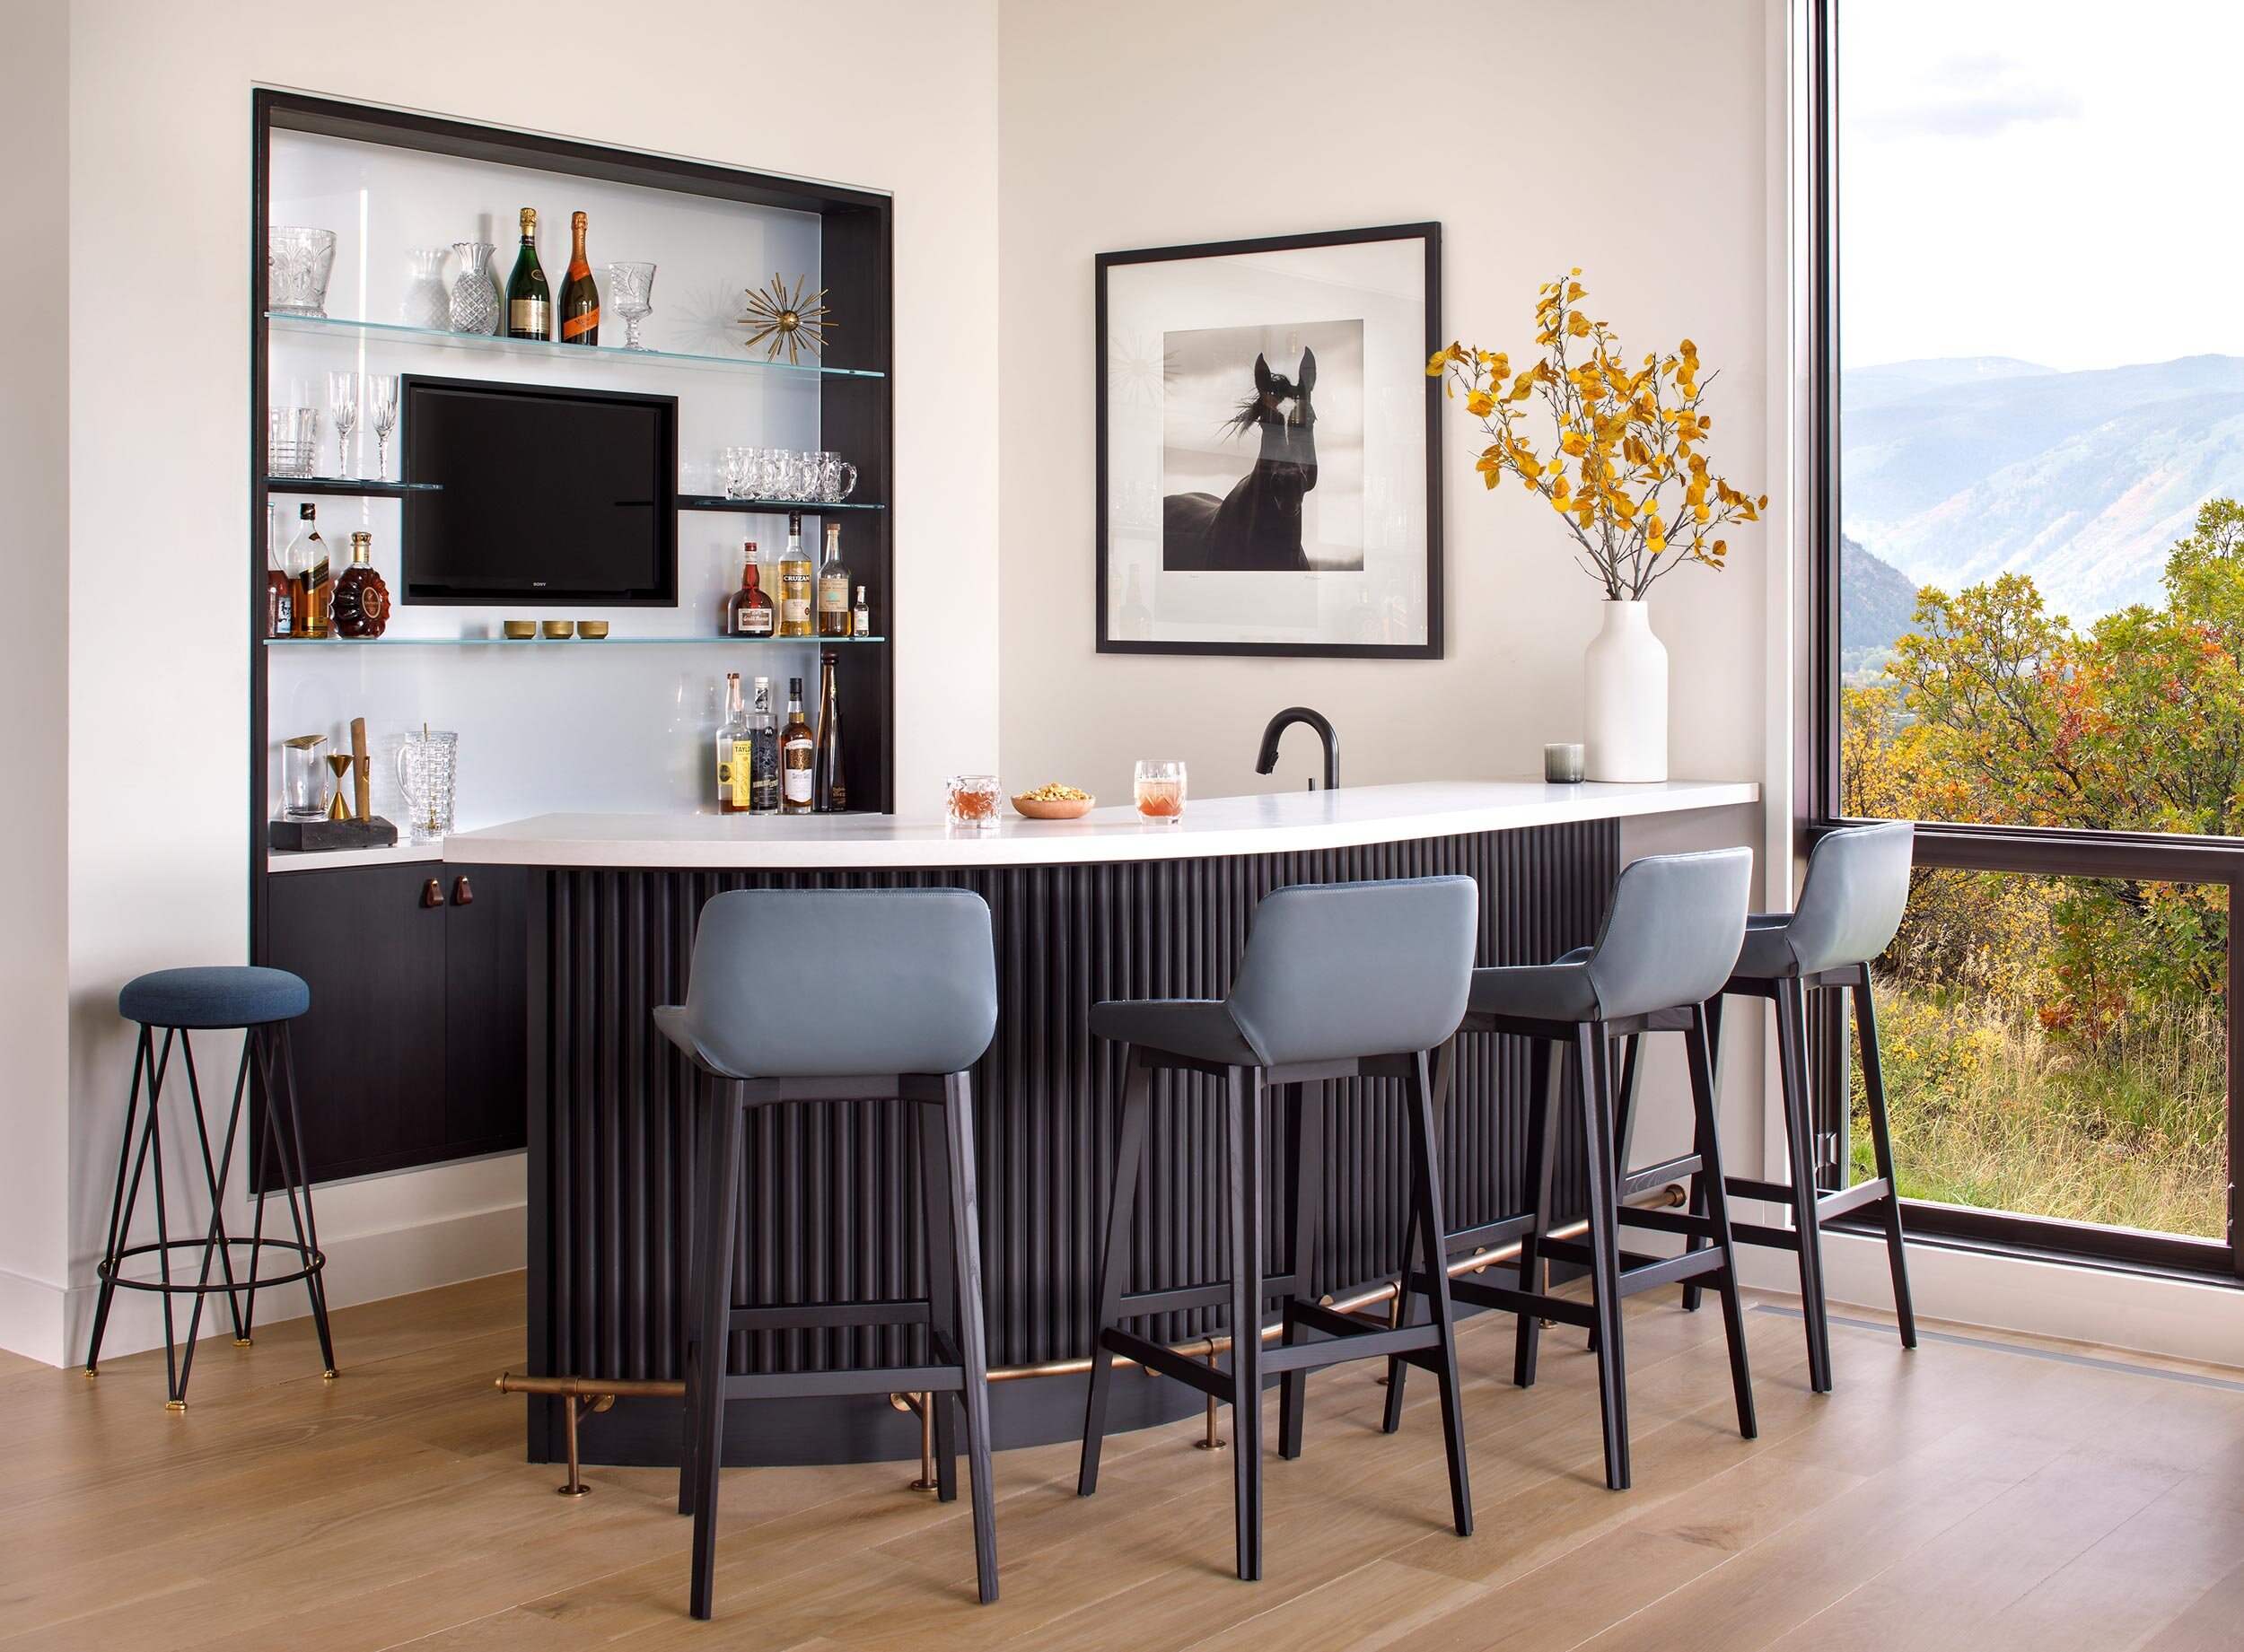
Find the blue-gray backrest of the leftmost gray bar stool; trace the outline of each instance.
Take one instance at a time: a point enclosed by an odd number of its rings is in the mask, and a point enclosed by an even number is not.
[[[743,1077],[963,1073],[996,1030],[972,889],[734,889],[702,907],[687,1030]]]

